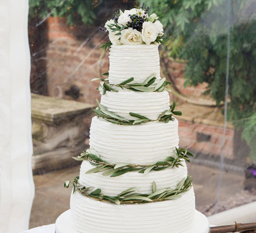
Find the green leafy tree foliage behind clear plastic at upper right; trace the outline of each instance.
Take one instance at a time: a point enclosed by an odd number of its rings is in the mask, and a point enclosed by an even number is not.
[[[165,33],[172,37],[169,55],[187,62],[185,85],[208,83],[205,94],[219,105],[225,95],[226,1],[149,0],[147,4],[152,12],[163,14]],[[251,148],[251,160],[256,161],[256,15],[252,4],[240,0],[231,4],[228,119],[242,129],[242,138]]]

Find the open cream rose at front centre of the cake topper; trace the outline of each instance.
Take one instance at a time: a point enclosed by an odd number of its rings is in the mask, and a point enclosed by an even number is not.
[[[141,32],[128,28],[121,31],[121,43],[125,45],[139,45],[142,43]]]

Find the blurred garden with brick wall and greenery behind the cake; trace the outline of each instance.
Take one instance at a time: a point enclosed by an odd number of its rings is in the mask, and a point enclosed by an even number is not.
[[[108,40],[99,31],[131,0],[29,0],[33,173],[36,196],[30,227],[54,223],[69,208],[65,180],[88,147],[98,83],[108,72]],[[182,111],[180,147],[196,208],[207,216],[256,201],[256,2],[148,0],[161,15],[167,46],[159,46],[161,77]],[[228,90],[226,89],[228,84]],[[225,95],[225,92],[227,95]],[[225,114],[225,100],[227,103]],[[225,120],[226,119],[226,120]],[[225,130],[224,130],[225,129]],[[224,134],[223,134],[224,132]],[[51,209],[44,209],[51,205]]]

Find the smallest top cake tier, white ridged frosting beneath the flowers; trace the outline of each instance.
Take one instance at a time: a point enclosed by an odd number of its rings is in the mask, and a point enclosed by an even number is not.
[[[132,83],[144,82],[156,74],[160,79],[158,45],[111,45],[109,52],[109,83],[119,84],[131,77]]]

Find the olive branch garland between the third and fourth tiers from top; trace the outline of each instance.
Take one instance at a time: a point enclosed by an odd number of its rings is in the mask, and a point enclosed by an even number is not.
[[[151,165],[136,165],[132,163],[108,163],[107,161],[100,158],[100,155],[97,151],[93,149],[87,149],[83,151],[79,156],[72,157],[75,160],[89,160],[89,162],[97,166],[85,172],[85,174],[102,172],[102,175],[115,177],[122,174],[125,174],[129,171],[138,171],[139,173],[144,173],[144,175],[148,174],[150,171],[160,171],[170,167],[179,167],[183,166],[182,161],[186,160],[190,162],[188,156],[194,157],[194,155],[183,148],[176,148],[176,158],[169,156],[165,159],[165,161],[158,161]]]

